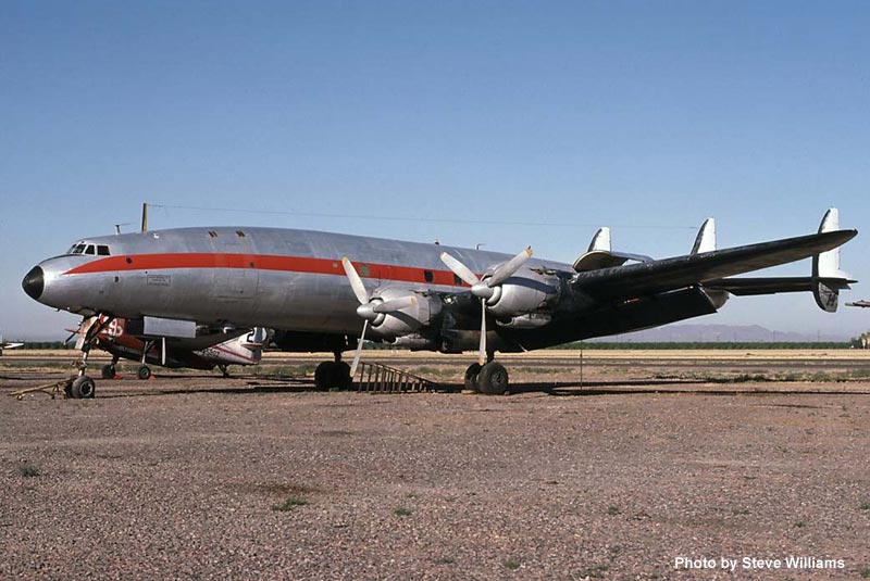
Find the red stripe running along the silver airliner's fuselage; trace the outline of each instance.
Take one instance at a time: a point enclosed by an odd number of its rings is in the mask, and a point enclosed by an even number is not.
[[[450,270],[427,270],[391,264],[353,263],[362,278],[424,282],[448,287],[461,287]],[[303,256],[277,256],[270,254],[216,254],[211,252],[179,252],[173,254],[132,254],[109,256],[66,270],[64,275],[90,273],[116,273],[125,270],[163,270],[171,268],[252,268],[258,270],[282,270],[314,275],[346,276],[340,260],[309,258]],[[425,273],[432,274],[426,280]]]

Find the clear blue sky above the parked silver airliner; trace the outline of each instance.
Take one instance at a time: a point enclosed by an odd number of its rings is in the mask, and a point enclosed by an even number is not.
[[[156,209],[152,228],[531,244],[566,262],[599,225],[659,257],[707,216],[720,247],[815,231],[830,205],[861,230],[868,29],[870,4],[847,1],[3,2],[0,331],[63,336],[74,317],[22,277],[138,223],[142,201],[282,212]],[[844,268],[870,281],[866,239]],[[870,329],[870,313],[803,294],[705,320]]]

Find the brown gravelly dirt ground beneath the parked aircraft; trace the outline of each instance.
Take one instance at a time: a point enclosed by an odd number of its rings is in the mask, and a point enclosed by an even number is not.
[[[0,578],[870,577],[862,352],[505,356],[509,396],[458,391],[473,356],[366,356],[453,391],[270,354],[16,400],[72,357],[8,352]]]

